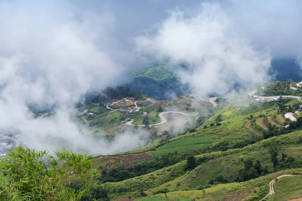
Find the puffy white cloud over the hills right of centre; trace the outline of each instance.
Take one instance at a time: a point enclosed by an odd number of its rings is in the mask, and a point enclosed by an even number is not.
[[[235,29],[218,4],[202,4],[198,12],[174,11],[153,32],[136,38],[137,50],[173,62],[186,61],[180,72],[195,93],[228,92],[236,83],[246,87],[268,79],[268,52],[257,52]]]

